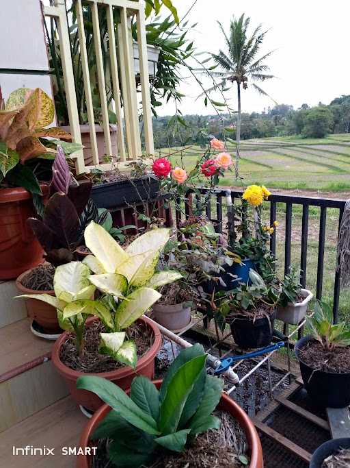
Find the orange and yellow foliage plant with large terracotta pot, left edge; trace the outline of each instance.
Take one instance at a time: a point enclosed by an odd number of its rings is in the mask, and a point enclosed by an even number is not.
[[[25,224],[48,195],[38,177],[45,180],[49,173],[51,178],[57,143],[67,153],[80,147],[57,140],[71,139],[63,130],[45,128],[53,118],[53,101],[40,88],[15,90],[5,106],[0,93],[0,280],[42,261],[42,248]]]

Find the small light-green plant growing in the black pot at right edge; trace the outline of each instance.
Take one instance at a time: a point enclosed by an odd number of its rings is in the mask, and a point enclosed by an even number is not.
[[[350,328],[345,322],[333,324],[332,307],[325,302],[315,302],[314,314],[306,317],[306,325],[324,349],[350,346]]]

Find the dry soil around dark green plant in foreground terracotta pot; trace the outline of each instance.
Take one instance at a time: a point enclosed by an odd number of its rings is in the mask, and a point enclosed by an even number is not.
[[[241,468],[239,460],[248,460],[247,440],[237,419],[228,412],[216,410],[221,427],[200,434],[185,452],[159,452],[148,468]],[[108,441],[98,443],[98,451],[93,458],[92,468],[111,467],[107,458]],[[248,462],[249,463],[249,462]],[[113,466],[113,465],[112,465]]]

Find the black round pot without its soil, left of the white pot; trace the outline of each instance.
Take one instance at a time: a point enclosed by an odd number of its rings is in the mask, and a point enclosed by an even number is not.
[[[262,319],[237,317],[230,323],[235,343],[242,349],[260,348],[268,346],[272,341],[275,312]]]

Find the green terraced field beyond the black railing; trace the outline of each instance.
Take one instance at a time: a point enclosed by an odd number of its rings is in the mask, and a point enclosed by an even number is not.
[[[228,144],[234,156],[234,145]],[[183,160],[191,169],[204,149],[199,146],[159,149],[159,155],[172,154],[174,164]],[[298,137],[243,140],[239,174],[243,184],[265,184],[269,188],[350,190],[350,134],[311,139]],[[237,185],[234,173],[221,179],[221,185]]]

